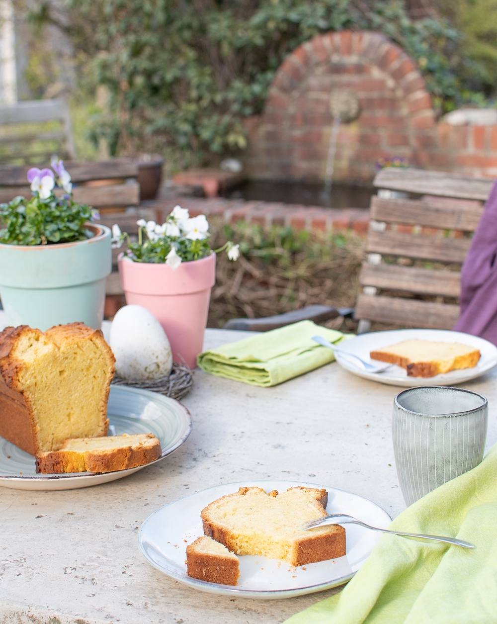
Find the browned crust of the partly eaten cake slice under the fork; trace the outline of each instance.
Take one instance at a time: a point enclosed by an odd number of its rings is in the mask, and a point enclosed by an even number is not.
[[[300,489],[309,492],[311,496],[316,500],[321,509],[321,514],[326,515],[326,505],[328,494],[326,490],[296,487],[290,488],[290,490]],[[261,488],[256,487],[241,487],[238,492],[234,494],[228,494],[215,500],[210,505],[207,505],[201,512],[201,519],[203,523],[204,534],[216,542],[220,542],[232,552],[236,552],[236,532],[229,529],[229,527],[223,526],[220,522],[213,519],[213,512],[218,505],[226,500],[234,497],[240,497],[248,494],[251,490],[258,490],[264,492]],[[266,494],[266,492],[264,492]],[[277,490],[269,492],[268,496],[277,497]],[[319,517],[319,514],[317,514]],[[345,529],[340,525],[331,525],[327,527],[329,531],[326,534],[316,532],[306,532],[306,535],[302,537],[296,537],[293,542],[289,563],[291,565],[306,565],[307,563],[316,563],[318,561],[325,561],[327,559],[334,559],[337,557],[343,557],[346,553],[345,545]]]

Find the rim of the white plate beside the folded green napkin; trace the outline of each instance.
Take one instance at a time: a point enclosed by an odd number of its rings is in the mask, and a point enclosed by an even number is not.
[[[348,346],[348,343],[354,343],[355,340],[357,339],[360,340],[363,337],[365,338],[367,336],[373,336],[373,335],[379,335],[379,334],[395,334],[401,331],[402,332],[403,331],[443,332],[443,333],[456,334],[458,336],[470,336],[471,340],[483,341],[483,343],[486,343],[493,351],[493,358],[491,358],[490,361],[487,364],[485,364],[485,366],[481,368],[479,371],[475,371],[474,368],[465,369],[468,371],[472,370],[473,373],[461,375],[461,378],[459,379],[440,379],[440,374],[435,375],[434,377],[429,377],[429,378],[428,377],[426,378],[425,377],[405,377],[405,378],[404,377],[388,377],[388,376],[382,375],[381,373],[369,373],[368,371],[363,371],[359,368],[356,368],[354,364],[349,363],[345,358],[343,358],[341,353],[338,353],[338,352],[335,353],[335,359],[337,363],[345,371],[348,371],[349,373],[352,373],[356,375],[357,377],[361,377],[363,379],[369,379],[370,381],[376,381],[377,383],[386,384],[388,386],[403,386],[405,388],[413,388],[415,386],[433,386],[433,385],[451,386],[454,384],[462,384],[462,383],[465,383],[466,381],[471,381],[472,379],[477,379],[478,377],[485,375],[486,373],[491,371],[491,369],[497,366],[497,346],[495,346],[495,344],[491,343],[486,338],[481,338],[481,336],[473,336],[473,334],[468,334],[463,331],[454,331],[453,329],[406,328],[406,329],[384,329],[382,331],[369,331],[364,334],[357,334],[356,336],[354,336],[354,338],[344,341],[342,344],[340,344],[340,349],[345,350]]]

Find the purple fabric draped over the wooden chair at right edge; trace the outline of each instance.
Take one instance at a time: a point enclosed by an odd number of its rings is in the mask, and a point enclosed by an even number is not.
[[[461,270],[461,312],[454,326],[497,344],[497,180]]]

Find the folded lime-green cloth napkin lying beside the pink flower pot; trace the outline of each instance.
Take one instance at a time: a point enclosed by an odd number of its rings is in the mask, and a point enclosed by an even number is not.
[[[300,321],[204,351],[197,364],[218,377],[253,386],[276,386],[335,359],[331,349],[312,340],[316,334],[335,344],[354,337],[312,321]]]

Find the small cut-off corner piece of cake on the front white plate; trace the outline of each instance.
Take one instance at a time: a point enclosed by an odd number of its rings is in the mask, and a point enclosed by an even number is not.
[[[186,573],[209,583],[236,585],[240,576],[238,557],[203,535],[186,547]]]

